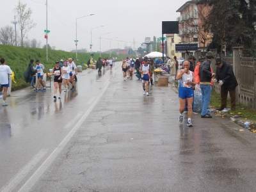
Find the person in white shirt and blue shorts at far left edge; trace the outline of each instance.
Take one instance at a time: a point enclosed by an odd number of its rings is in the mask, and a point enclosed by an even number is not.
[[[1,65],[0,65],[0,92],[4,90],[4,95],[3,95],[3,106],[8,106],[6,103],[6,97],[7,97],[7,90],[9,87],[9,75],[12,75],[12,70],[8,65],[5,65],[5,60],[4,58],[1,58],[0,60]]]

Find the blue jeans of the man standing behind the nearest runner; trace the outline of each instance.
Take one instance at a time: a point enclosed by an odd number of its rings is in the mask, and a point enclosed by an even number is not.
[[[207,114],[207,109],[211,100],[212,86],[211,84],[200,84],[202,91],[202,112],[201,115]]]

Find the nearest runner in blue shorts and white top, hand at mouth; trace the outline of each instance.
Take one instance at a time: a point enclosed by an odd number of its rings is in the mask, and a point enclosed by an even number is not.
[[[179,121],[182,123],[183,121],[183,112],[186,108],[186,102],[188,103],[188,127],[193,127],[191,124],[191,117],[193,114],[192,104],[193,104],[193,96],[194,90],[192,86],[196,85],[195,82],[195,74],[191,70],[189,70],[190,63],[189,61],[183,62],[183,69],[179,70],[176,79],[179,80],[179,100],[180,100],[180,116]]]

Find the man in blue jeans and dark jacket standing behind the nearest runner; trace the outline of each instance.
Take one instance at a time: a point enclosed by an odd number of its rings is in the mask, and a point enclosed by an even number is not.
[[[202,118],[211,118],[212,116],[207,113],[208,106],[211,100],[211,79],[215,76],[211,73],[211,61],[214,58],[214,54],[211,51],[207,52],[205,60],[201,63],[199,67],[199,77],[200,77],[200,88],[202,91]]]

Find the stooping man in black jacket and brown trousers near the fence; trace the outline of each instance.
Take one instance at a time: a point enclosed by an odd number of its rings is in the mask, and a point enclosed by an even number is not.
[[[229,63],[218,58],[216,60],[216,76],[214,82],[221,86],[221,106],[217,110],[227,108],[228,92],[230,95],[231,110],[236,110],[236,86],[238,85],[233,69]]]

